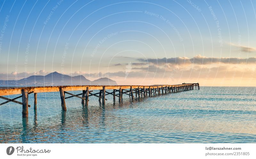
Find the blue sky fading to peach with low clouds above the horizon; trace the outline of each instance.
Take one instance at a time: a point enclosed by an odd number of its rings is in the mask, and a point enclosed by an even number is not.
[[[0,0],[0,79],[256,86],[255,1]]]

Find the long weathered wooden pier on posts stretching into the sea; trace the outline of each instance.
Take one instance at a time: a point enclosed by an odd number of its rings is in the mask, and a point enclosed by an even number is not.
[[[83,86],[43,86],[43,87],[0,87],[0,98],[6,101],[0,105],[4,105],[9,102],[14,102],[22,105],[22,117],[28,117],[28,95],[34,93],[34,109],[36,110],[37,105],[37,93],[43,92],[60,92],[61,107],[63,111],[67,111],[65,99],[68,98],[80,98],[82,99],[82,105],[88,106],[89,97],[95,96],[105,104],[107,100],[105,97],[107,95],[112,95],[113,100],[118,98],[121,102],[123,95],[128,95],[130,98],[146,98],[153,97],[157,95],[164,95],[167,93],[177,93],[181,91],[200,89],[199,83],[182,83],[176,85],[150,85],[150,86],[140,86],[140,85],[116,85],[116,86],[94,86],[94,85],[83,85]],[[72,94],[68,91],[81,90],[80,94]],[[92,93],[93,90],[100,90],[98,93]],[[3,96],[21,94],[16,98],[10,99]],[[66,94],[69,95],[66,97]],[[134,97],[135,95],[135,97]],[[81,96],[81,97],[80,97]],[[16,101],[16,99],[22,98],[22,102]]]

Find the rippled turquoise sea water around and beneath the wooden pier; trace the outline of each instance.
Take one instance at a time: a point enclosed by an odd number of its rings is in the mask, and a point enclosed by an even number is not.
[[[123,95],[122,103],[106,98],[101,105],[90,97],[88,108],[69,98],[62,112],[59,92],[38,93],[34,112],[30,94],[28,119],[21,105],[2,105],[0,143],[256,143],[255,87],[200,87],[133,101]]]

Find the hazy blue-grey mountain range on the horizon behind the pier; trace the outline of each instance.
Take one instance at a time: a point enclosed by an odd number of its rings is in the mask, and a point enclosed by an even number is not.
[[[30,86],[52,86],[52,85],[117,85],[116,81],[109,78],[99,78],[94,81],[84,76],[68,76],[58,72],[52,72],[45,76],[29,76],[20,80],[0,80],[1,85],[30,85]]]

